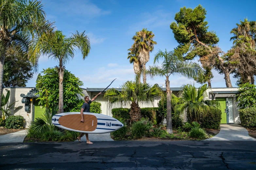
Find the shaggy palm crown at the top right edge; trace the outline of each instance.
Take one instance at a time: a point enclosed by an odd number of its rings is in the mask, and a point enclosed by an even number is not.
[[[240,20],[240,24],[236,23],[230,34],[234,35],[230,38],[234,45],[245,42],[249,43],[252,49],[256,48],[256,21],[248,21],[247,18],[244,21]]]

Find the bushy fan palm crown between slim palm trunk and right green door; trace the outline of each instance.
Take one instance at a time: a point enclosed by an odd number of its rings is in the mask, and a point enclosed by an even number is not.
[[[212,106],[210,109],[214,113],[214,109],[219,108],[220,104],[217,100],[205,100],[208,98],[207,89],[207,84],[204,84],[198,89],[191,84],[184,85],[181,97],[172,94],[172,102],[175,105],[175,109],[178,112],[184,112],[186,109],[189,122],[198,121],[201,110],[206,109],[207,106]]]

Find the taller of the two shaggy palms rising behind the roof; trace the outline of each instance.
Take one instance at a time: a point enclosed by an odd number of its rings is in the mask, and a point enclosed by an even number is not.
[[[155,35],[152,31],[147,31],[147,29],[143,28],[141,31],[136,32],[136,34],[132,37],[134,40],[134,44],[132,48],[135,49],[138,53],[138,59],[142,64],[143,70],[146,70],[146,63],[149,61],[149,52],[154,50],[154,45],[157,44],[153,41]],[[143,83],[146,83],[146,74],[143,72]]]

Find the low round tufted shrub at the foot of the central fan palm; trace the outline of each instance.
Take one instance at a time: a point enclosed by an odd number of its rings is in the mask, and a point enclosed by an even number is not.
[[[145,136],[148,132],[148,127],[146,124],[142,123],[141,121],[136,121],[131,125],[131,135],[134,138],[141,138]]]

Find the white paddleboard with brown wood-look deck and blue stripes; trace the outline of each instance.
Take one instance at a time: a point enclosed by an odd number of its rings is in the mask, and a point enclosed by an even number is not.
[[[52,117],[52,124],[69,131],[104,134],[124,127],[123,123],[107,115],[84,112],[84,122],[81,122],[80,112],[59,113]]]

